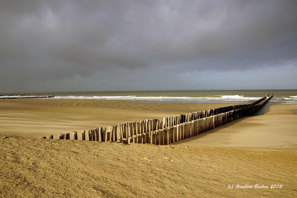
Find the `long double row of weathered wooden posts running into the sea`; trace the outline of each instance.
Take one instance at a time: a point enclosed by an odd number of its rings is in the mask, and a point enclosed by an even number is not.
[[[265,96],[250,104],[238,104],[210,110],[164,117],[163,120],[146,119],[99,127],[88,130],[89,141],[116,141],[129,144],[168,145],[183,140],[258,111],[272,96]],[[86,131],[81,132],[82,140],[86,140]],[[46,137],[42,137],[46,138]],[[53,135],[49,136],[53,139]],[[70,140],[70,133],[60,134],[59,139]],[[72,139],[78,140],[78,132],[72,132]]]

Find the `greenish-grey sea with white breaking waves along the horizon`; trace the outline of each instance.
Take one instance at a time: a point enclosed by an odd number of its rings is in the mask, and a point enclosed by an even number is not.
[[[65,92],[26,92],[0,93],[7,95],[51,96],[49,99],[101,99],[133,100],[143,102],[178,102],[178,103],[250,103],[266,95],[274,95],[270,104],[297,103],[297,89],[293,90],[160,90],[160,91],[65,91]],[[22,96],[20,96],[22,97]]]

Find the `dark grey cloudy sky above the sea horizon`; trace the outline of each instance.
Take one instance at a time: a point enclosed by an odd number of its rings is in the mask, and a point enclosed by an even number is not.
[[[296,0],[0,1],[2,93],[296,85]]]

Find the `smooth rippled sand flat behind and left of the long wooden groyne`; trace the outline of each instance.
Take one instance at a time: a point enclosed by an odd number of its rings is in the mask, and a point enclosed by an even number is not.
[[[238,103],[153,103],[127,100],[0,100],[0,133],[42,137],[107,127],[127,121],[189,113]],[[79,137],[81,137],[79,135]]]

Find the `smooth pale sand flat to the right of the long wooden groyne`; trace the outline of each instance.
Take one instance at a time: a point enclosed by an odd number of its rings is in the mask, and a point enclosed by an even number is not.
[[[174,144],[297,151],[297,105],[278,104],[260,116],[238,119]]]

